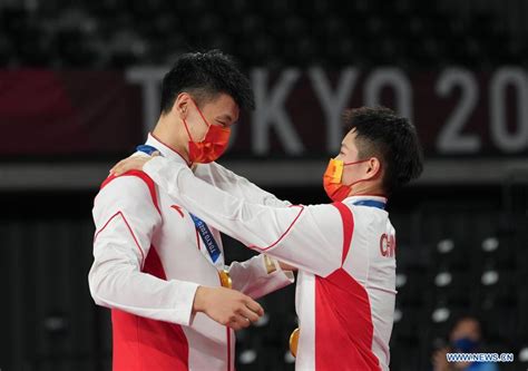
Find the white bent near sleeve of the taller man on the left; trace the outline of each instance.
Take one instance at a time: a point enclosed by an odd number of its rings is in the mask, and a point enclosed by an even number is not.
[[[188,325],[197,284],[143,273],[162,217],[147,184],[137,176],[109,182],[94,204],[94,301],[140,316]]]

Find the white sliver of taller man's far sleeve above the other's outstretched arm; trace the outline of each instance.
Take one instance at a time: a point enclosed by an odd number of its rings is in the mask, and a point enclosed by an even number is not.
[[[198,164],[194,174],[202,180],[250,203],[275,207],[287,207],[291,205],[290,202],[278,199],[275,195],[257,187],[246,178],[236,175],[217,163]]]

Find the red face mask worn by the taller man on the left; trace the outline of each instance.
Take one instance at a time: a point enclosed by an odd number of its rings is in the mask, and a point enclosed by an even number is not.
[[[192,163],[208,164],[222,156],[222,154],[227,148],[227,145],[229,144],[231,129],[207,123],[194,100],[193,104],[198,110],[198,114],[204,123],[207,125],[208,129],[205,134],[205,138],[202,141],[194,141],[193,137],[190,136],[187,121],[185,118],[183,119],[185,129],[189,136],[189,160]]]

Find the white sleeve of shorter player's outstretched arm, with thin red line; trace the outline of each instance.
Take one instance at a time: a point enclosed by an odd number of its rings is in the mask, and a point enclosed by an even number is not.
[[[148,162],[144,170],[186,209],[250,248],[321,276],[341,265],[343,227],[332,205],[253,204],[162,157]]]

